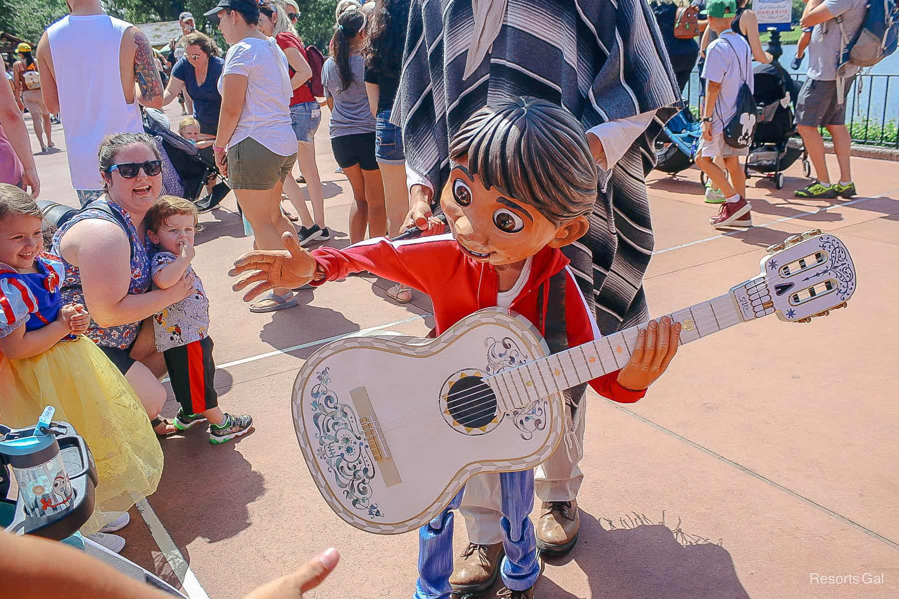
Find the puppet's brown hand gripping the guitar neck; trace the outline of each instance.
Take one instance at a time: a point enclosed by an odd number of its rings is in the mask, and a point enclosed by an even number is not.
[[[636,334],[634,353],[619,371],[619,384],[630,391],[641,391],[654,383],[671,363],[680,340],[680,322],[672,325],[667,316],[661,322],[650,321]]]

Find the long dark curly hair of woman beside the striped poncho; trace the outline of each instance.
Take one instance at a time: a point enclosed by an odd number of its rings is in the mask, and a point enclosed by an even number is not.
[[[365,67],[379,78],[399,78],[408,21],[409,0],[380,0],[375,4],[362,57]]]

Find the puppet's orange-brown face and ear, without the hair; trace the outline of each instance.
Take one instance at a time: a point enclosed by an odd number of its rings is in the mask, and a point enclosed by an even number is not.
[[[583,216],[559,227],[536,208],[495,187],[485,189],[480,177],[468,172],[466,156],[452,163],[441,207],[462,251],[494,266],[527,260],[546,245],[562,247],[586,232]]]

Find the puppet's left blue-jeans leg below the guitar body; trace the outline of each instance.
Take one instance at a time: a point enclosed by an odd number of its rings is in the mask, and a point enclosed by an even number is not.
[[[418,529],[418,581],[414,599],[449,599],[452,589],[452,510],[462,503],[463,487],[439,515]]]

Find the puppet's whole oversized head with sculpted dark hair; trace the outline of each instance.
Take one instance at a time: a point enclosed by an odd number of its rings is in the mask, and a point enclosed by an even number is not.
[[[449,158],[441,207],[474,260],[514,264],[587,232],[596,163],[581,124],[556,104],[489,103],[459,129]]]

